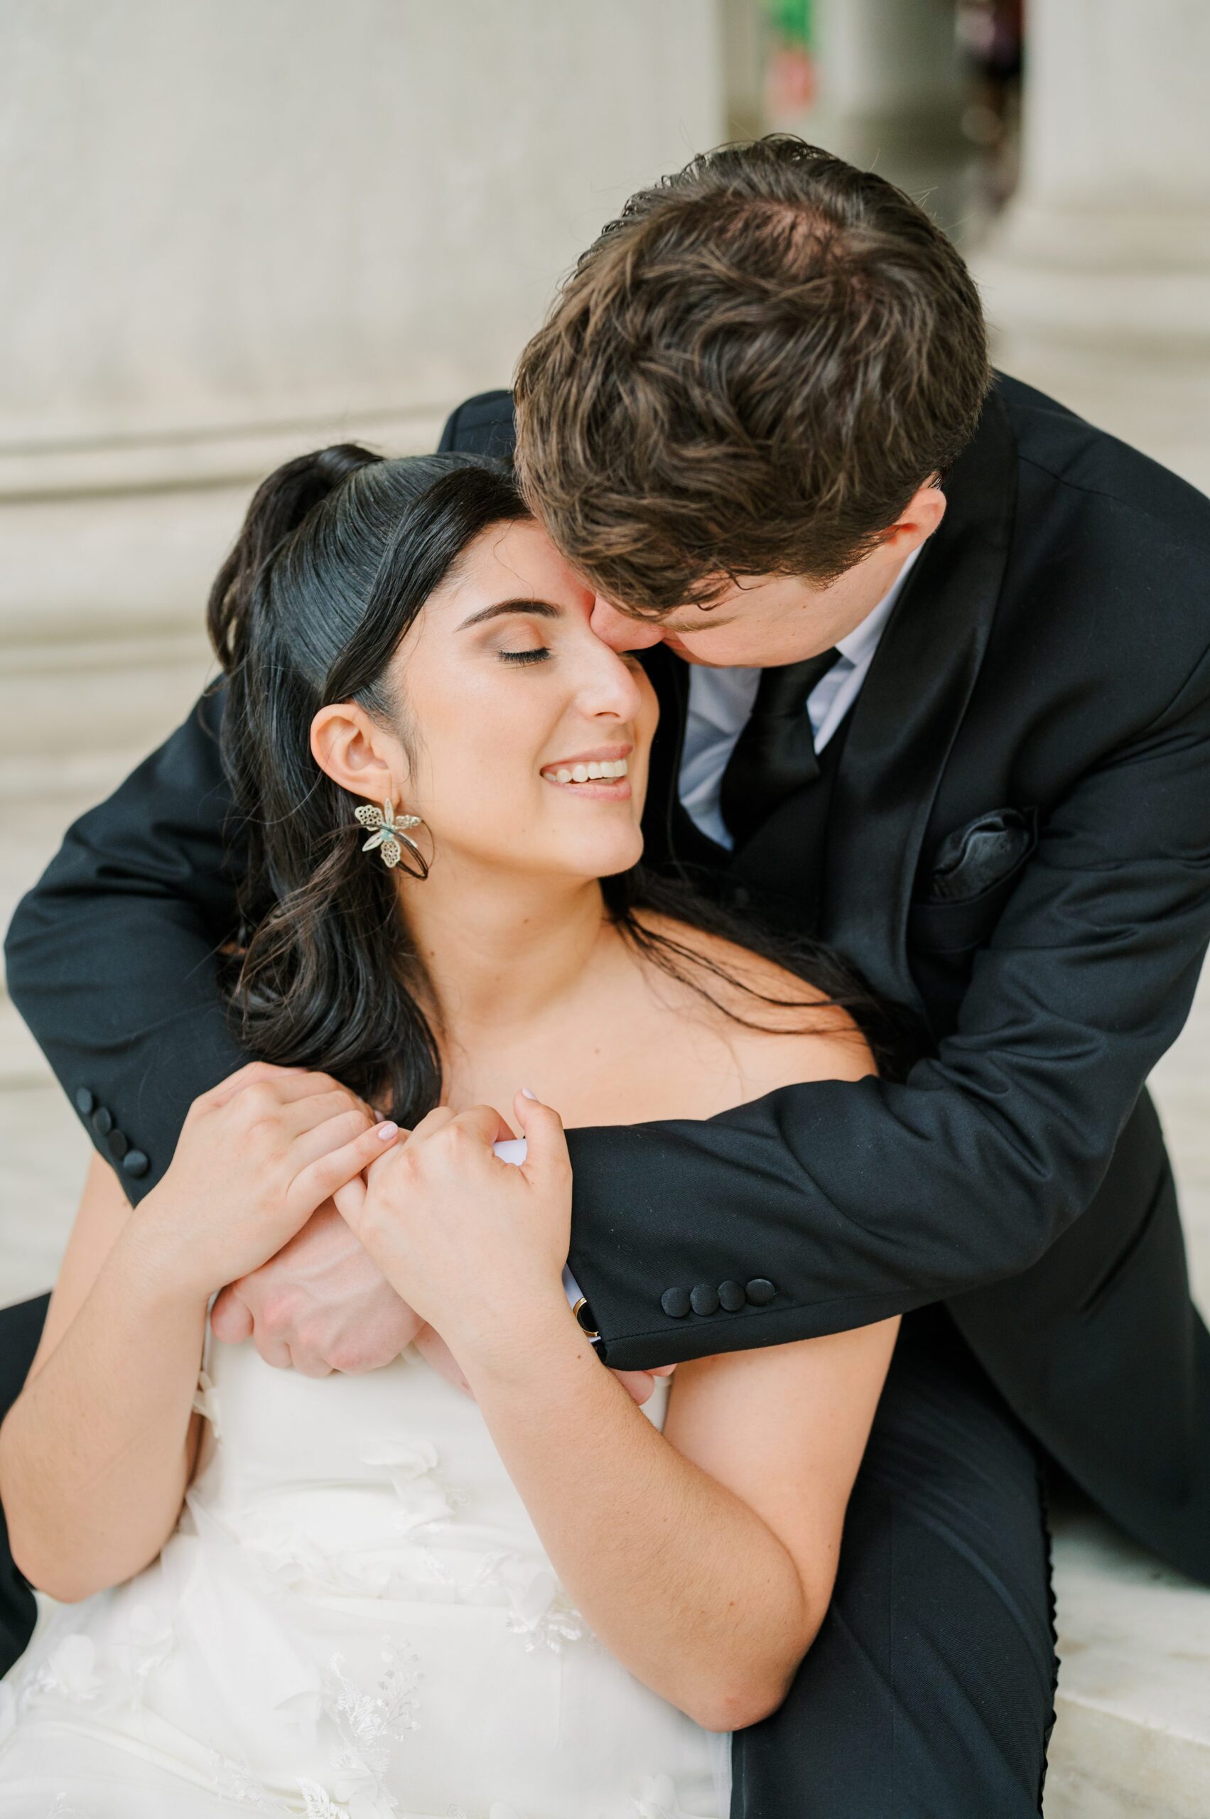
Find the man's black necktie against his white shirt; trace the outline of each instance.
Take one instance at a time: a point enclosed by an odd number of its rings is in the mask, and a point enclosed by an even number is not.
[[[761,671],[748,726],[722,773],[719,808],[737,846],[751,839],[779,802],[819,777],[806,698],[841,653]]]

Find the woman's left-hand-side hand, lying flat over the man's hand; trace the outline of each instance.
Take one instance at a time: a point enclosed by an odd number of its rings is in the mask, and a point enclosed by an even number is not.
[[[156,1266],[209,1297],[280,1251],[395,1139],[329,1075],[249,1062],[193,1100],[164,1181],[138,1208]]]

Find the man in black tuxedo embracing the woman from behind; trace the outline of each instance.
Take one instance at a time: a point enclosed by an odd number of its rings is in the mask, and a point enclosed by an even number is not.
[[[746,1819],[1037,1814],[1044,1453],[1210,1581],[1210,1344],[1144,1091],[1210,937],[1210,506],[988,378],[944,236],[784,138],[637,195],[517,378],[533,509],[662,698],[648,855],[833,942],[919,1057],[570,1137],[606,1362],[906,1315],[830,1619],[735,1737]],[[442,446],[511,453],[509,395]],[[220,715],[69,831],[9,939],[133,1195],[242,1059],[213,970],[240,862]],[[408,1310],[335,1242],[217,1322],[308,1370],[384,1362]],[[36,1319],[9,1315],[9,1397]]]

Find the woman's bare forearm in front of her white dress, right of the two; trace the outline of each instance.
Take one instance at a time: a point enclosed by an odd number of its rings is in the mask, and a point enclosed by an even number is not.
[[[600,1366],[566,1302],[524,1344],[453,1341],[568,1593],[606,1646],[710,1730],[775,1710],[813,1639],[795,1564]]]

